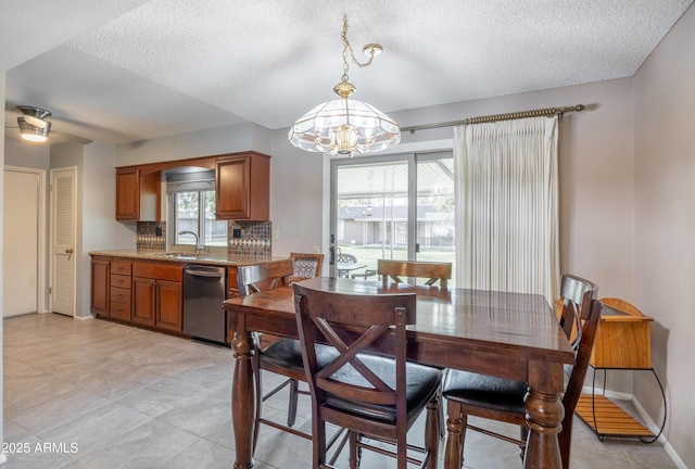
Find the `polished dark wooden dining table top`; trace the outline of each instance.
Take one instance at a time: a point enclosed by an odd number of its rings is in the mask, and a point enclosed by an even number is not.
[[[408,326],[408,340],[414,342],[448,341],[450,345],[465,346],[467,350],[493,348],[495,355],[504,354],[509,358],[523,356],[528,359],[533,356],[536,359],[542,357],[563,364],[573,364],[574,360],[567,337],[547,301],[540,294],[460,288],[442,291],[438,287],[406,283],[391,283],[383,288],[380,281],[329,277],[312,278],[303,280],[302,283],[344,294],[415,292],[417,320],[415,325]],[[275,330],[265,332],[298,337],[296,326],[292,327],[295,313],[291,286],[227,300],[224,308],[230,310],[235,305],[241,306],[245,312],[257,310],[265,321],[273,322],[275,318],[283,322],[281,328],[273,328]],[[235,317],[230,317],[230,342],[235,330],[244,329],[240,326],[235,327],[231,324],[233,320]],[[513,375],[515,376],[509,378],[525,379],[523,373]]]

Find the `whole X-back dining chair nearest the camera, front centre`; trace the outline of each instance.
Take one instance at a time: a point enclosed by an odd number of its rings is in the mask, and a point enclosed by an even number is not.
[[[427,409],[420,467],[437,467],[438,394],[442,372],[406,360],[406,326],[415,324],[415,293],[346,294],[294,283],[294,307],[312,394],[313,467],[325,468],[326,423],[349,431],[350,467],[359,466],[363,449],[408,461],[407,431]],[[379,355],[369,347],[379,341]],[[321,363],[317,343],[338,355]],[[395,448],[363,439],[391,442]]]

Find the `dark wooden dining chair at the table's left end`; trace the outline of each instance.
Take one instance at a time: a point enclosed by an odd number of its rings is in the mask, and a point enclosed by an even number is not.
[[[240,266],[238,268],[238,283],[240,296],[253,294],[273,288],[288,286],[294,275],[294,266],[290,259],[281,263]],[[254,356],[254,377],[256,380],[256,415],[254,419],[254,447],[258,436],[258,424],[265,423],[279,430],[311,440],[311,435],[293,429],[296,420],[298,381],[306,381],[302,363],[302,348],[298,340],[287,338],[256,337],[258,353]],[[263,394],[261,386],[261,370],[270,371],[287,379],[271,391]],[[289,403],[287,426],[265,419],[261,416],[262,403],[289,386]]]

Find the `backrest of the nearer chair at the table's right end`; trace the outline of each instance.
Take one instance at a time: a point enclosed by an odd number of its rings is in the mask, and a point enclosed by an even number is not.
[[[585,292],[585,294],[589,292]],[[591,353],[594,348],[594,339],[596,338],[598,321],[601,320],[602,307],[602,303],[595,299],[587,299],[581,307],[581,339],[577,347],[574,366],[572,367],[572,372],[569,377],[567,388],[565,389],[565,395],[563,396],[565,419],[572,418],[574,407],[577,407],[577,402],[582,393],[584,378],[586,377],[586,369],[589,368],[589,360],[591,359]],[[563,427],[568,427],[568,424],[563,423]]]

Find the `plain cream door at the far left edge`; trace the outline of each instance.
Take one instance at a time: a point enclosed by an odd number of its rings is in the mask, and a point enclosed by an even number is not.
[[[45,172],[29,168],[4,170],[2,312],[4,317],[45,312],[42,262],[46,239]],[[21,201],[18,203],[17,201]]]

